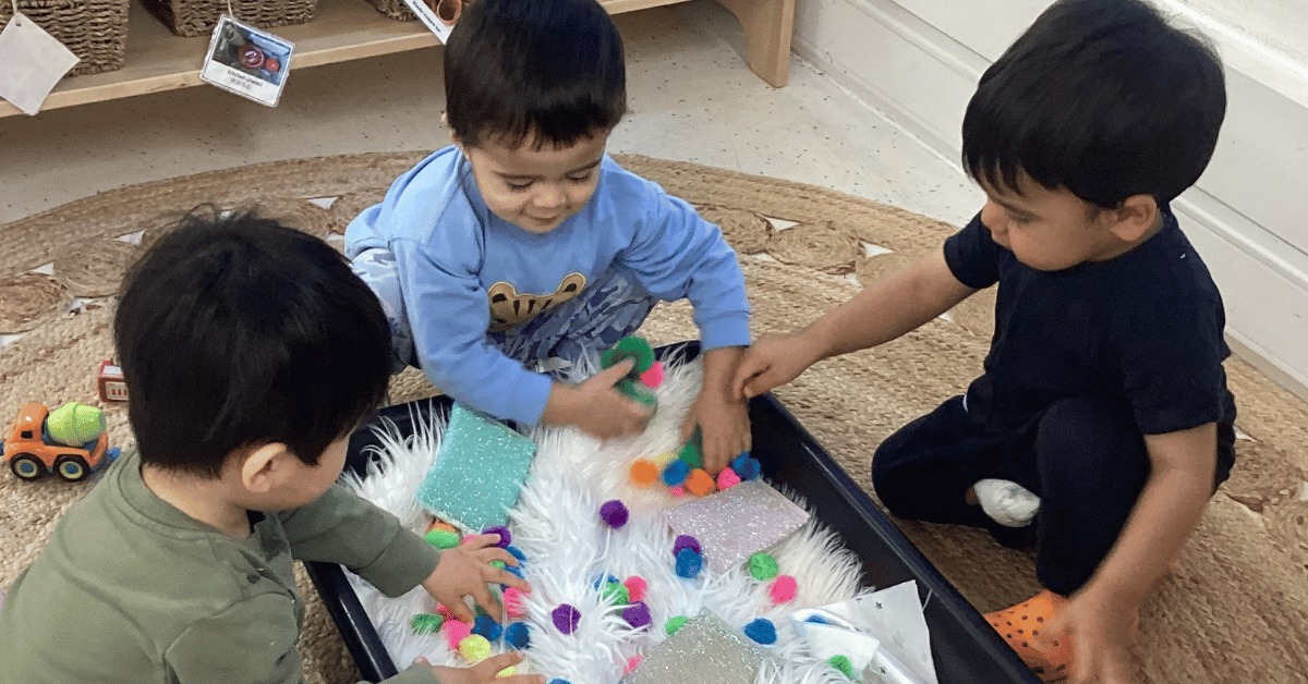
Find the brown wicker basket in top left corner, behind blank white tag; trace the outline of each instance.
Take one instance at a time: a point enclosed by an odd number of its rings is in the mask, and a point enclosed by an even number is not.
[[[127,52],[128,0],[18,0],[18,12],[72,50],[81,60],[68,76],[123,68]],[[13,3],[0,1],[0,26]]]

